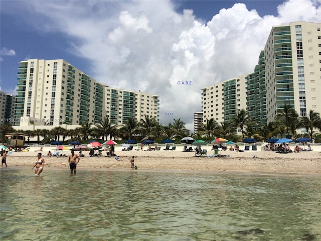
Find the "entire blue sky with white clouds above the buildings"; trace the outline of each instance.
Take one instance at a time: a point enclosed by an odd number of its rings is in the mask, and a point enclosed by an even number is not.
[[[273,26],[321,22],[321,0],[0,1],[0,90],[22,60],[64,59],[98,82],[159,96],[194,132],[202,88],[254,70]],[[182,84],[184,83],[184,84]]]

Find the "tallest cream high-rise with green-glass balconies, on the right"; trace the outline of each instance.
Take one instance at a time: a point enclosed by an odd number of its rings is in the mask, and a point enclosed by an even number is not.
[[[204,119],[230,119],[246,109],[259,125],[288,105],[299,116],[321,113],[321,23],[272,28],[252,73],[203,88]],[[301,130],[304,132],[304,130]]]

